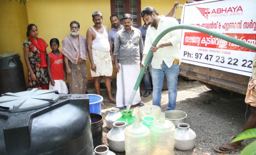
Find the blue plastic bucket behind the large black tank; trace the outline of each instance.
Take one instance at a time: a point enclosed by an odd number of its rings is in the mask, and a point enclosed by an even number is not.
[[[101,102],[103,97],[96,94],[87,94],[89,97],[90,113],[98,113],[101,115]]]

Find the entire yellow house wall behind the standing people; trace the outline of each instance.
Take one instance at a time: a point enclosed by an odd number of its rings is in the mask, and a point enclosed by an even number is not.
[[[154,7],[160,15],[166,15],[173,7],[175,0],[141,0],[141,10],[146,6]],[[186,1],[180,0],[181,4]],[[182,8],[180,8],[182,11]],[[25,81],[28,85],[28,73],[24,60],[22,45],[26,38],[28,24],[38,26],[38,37],[49,44],[51,38],[58,38],[60,42],[70,34],[70,22],[77,20],[80,23],[80,34],[86,37],[87,30],[93,25],[92,13],[101,11],[103,25],[111,29],[109,17],[110,0],[29,0],[26,5],[16,1],[0,0],[0,53],[19,52],[24,66]],[[181,11],[177,8],[176,18],[180,18]],[[142,21],[142,24],[143,21]],[[62,48],[62,44],[60,50]],[[50,52],[50,47],[47,52]],[[114,67],[114,66],[113,66]],[[88,80],[93,80],[90,73],[90,62],[87,61]],[[116,77],[113,68],[113,76]],[[66,81],[68,82],[68,81]]]

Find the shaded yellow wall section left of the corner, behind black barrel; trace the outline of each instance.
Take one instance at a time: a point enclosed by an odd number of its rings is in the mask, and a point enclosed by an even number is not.
[[[26,6],[20,2],[0,0],[0,53],[18,52],[24,66],[26,85],[28,71],[24,60],[22,45],[27,39],[28,16]]]

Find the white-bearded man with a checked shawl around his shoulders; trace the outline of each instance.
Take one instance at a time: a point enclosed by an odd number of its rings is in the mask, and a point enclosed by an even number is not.
[[[62,41],[62,53],[69,75],[70,94],[86,94],[88,74],[86,68],[87,44],[86,38],[79,34],[80,24],[70,23],[70,35]]]

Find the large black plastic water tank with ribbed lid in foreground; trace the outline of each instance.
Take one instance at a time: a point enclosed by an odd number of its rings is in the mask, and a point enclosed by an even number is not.
[[[1,155],[94,153],[88,96],[56,93],[34,88],[0,97]]]

